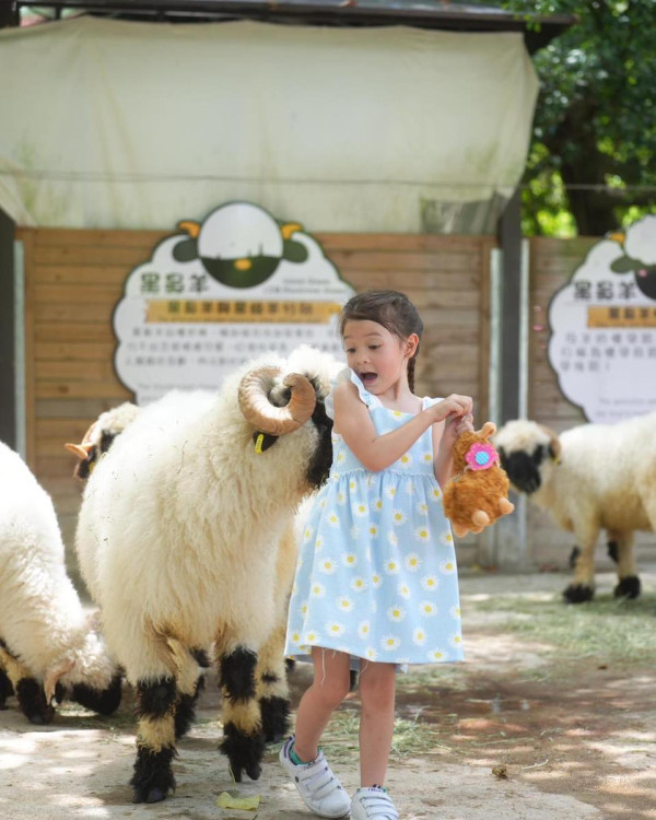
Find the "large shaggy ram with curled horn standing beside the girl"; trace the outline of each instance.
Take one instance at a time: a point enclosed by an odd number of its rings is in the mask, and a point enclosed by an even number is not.
[[[237,781],[259,776],[265,733],[283,728],[294,515],[328,473],[324,399],[339,366],[301,348],[216,395],[174,391],[140,410],[86,483],[77,549],[137,690],[137,803],[174,787],[199,648],[213,644],[219,659],[222,750]]]

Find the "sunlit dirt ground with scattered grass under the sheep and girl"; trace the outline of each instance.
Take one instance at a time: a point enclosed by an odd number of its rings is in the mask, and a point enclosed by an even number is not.
[[[399,678],[387,785],[403,820],[656,818],[656,637],[644,655],[640,645],[624,653],[634,636],[647,642],[634,635],[635,624],[656,635],[656,565],[641,576],[635,620],[636,602],[612,601],[610,572],[598,575],[597,598],[606,602],[586,611],[560,602],[564,573],[464,573],[467,661],[415,667]],[[625,624],[620,646],[618,624]],[[589,637],[576,643],[584,629],[597,641],[593,648],[581,648]],[[309,669],[297,665],[290,673],[293,705],[308,682]],[[216,751],[219,702],[210,678],[198,722],[179,745],[175,795],[134,806],[127,785],[134,751],[129,691],[110,718],[67,706],[46,728],[26,723],[10,701],[0,713],[0,811],[11,820],[309,818],[277,763],[279,746],[268,750],[259,781],[232,783]],[[349,790],[358,785],[356,710],[353,693],[325,739]],[[255,811],[222,809],[222,792],[259,795],[261,803]]]

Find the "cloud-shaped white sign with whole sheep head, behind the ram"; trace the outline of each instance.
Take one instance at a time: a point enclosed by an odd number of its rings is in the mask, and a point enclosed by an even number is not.
[[[250,202],[184,220],[127,277],[114,312],[118,378],[145,405],[300,343],[341,355],[337,314],[354,290],[297,222]]]

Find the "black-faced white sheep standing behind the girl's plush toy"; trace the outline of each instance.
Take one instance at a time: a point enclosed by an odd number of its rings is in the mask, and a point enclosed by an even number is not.
[[[656,413],[618,424],[581,424],[560,436],[534,421],[509,421],[494,442],[514,488],[576,536],[581,553],[565,600],[593,598],[601,529],[617,543],[616,596],[636,598],[634,531],[656,531]]]

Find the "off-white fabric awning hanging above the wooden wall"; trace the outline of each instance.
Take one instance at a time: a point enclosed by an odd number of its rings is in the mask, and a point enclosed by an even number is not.
[[[231,200],[311,231],[421,231],[507,197],[538,83],[522,34],[79,17],[0,32],[0,208],[162,229]]]

